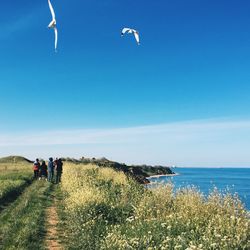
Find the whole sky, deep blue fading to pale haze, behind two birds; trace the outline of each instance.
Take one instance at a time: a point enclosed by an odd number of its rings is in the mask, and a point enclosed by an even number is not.
[[[53,31],[46,28],[51,20],[46,0],[0,3],[1,155],[53,152],[131,163],[250,166],[249,1],[52,4],[58,53]],[[123,27],[139,30],[141,46],[132,36],[120,37]],[[186,122],[203,132],[194,135]],[[223,123],[224,129],[218,132],[211,123]],[[173,124],[182,126],[189,141],[177,140],[180,130],[162,133],[161,140],[153,136],[158,126]],[[137,133],[128,133],[131,140],[125,142],[124,129]],[[76,132],[110,135],[110,130],[121,133],[119,139],[69,139]],[[64,140],[51,144],[58,131]],[[41,148],[30,143],[36,135],[44,135],[45,142],[37,139]]]

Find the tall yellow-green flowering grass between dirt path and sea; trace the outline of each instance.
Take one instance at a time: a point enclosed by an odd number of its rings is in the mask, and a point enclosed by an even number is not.
[[[250,249],[237,196],[171,184],[146,189],[123,173],[66,164],[60,205],[68,249]]]

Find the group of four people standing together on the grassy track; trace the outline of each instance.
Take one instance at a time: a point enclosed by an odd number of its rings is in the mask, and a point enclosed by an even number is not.
[[[55,161],[53,161],[53,158],[50,157],[48,161],[48,165],[46,165],[45,161],[42,161],[42,164],[40,164],[39,159],[36,159],[36,161],[33,164],[33,170],[34,170],[34,179],[45,179],[49,182],[55,182],[59,183],[61,182],[61,176],[62,176],[62,170],[63,170],[63,162],[59,158]],[[56,171],[56,175],[54,174]]]

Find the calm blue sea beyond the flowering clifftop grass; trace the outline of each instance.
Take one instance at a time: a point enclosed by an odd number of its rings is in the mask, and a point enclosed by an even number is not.
[[[176,168],[174,177],[152,178],[151,182],[168,182],[171,180],[176,188],[194,185],[204,194],[214,187],[221,191],[229,188],[237,193],[246,208],[250,210],[250,168]]]

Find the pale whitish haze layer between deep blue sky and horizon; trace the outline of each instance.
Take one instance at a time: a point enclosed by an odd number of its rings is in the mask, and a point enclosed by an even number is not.
[[[0,154],[106,156],[127,163],[250,166],[250,121],[0,134]]]

